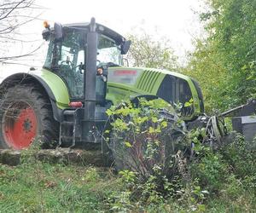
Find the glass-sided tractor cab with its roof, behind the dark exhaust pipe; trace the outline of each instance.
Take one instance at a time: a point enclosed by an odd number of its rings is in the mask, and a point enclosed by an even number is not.
[[[89,23],[64,26],[55,23],[54,28],[50,29],[47,26],[43,32],[44,39],[49,40],[44,68],[54,72],[67,84],[71,101],[84,100],[84,69],[87,64],[86,57],[91,55],[87,51],[89,26]],[[98,31],[96,66],[99,68],[99,71],[95,72],[96,95],[102,98],[100,93],[101,91],[105,93],[104,89],[102,90],[104,88],[102,80],[106,82],[108,73],[106,68],[107,66],[122,66],[122,53],[124,52],[122,46],[124,46],[125,39],[105,26],[96,25],[96,31]]]

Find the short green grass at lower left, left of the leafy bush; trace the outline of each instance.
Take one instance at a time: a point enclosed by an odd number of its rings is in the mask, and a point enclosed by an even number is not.
[[[0,212],[99,212],[117,191],[109,170],[62,164],[0,165]]]

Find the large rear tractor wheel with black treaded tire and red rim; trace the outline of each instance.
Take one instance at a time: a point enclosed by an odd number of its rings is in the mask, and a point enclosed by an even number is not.
[[[54,147],[59,124],[53,118],[49,98],[33,84],[7,89],[0,106],[0,147],[16,150],[40,141]]]

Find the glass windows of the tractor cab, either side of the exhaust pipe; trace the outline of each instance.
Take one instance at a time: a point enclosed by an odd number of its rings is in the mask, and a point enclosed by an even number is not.
[[[63,40],[58,43],[51,37],[44,62],[44,68],[55,72],[67,84],[69,95],[74,99],[84,95],[84,55],[87,54],[84,54],[84,40],[86,41],[86,34],[82,31],[67,30]],[[122,65],[119,45],[104,35],[98,37],[97,63]]]

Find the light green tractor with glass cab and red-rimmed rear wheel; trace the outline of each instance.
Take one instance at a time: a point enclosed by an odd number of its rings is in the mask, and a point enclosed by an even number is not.
[[[131,42],[95,19],[52,28],[45,23],[43,37],[49,41],[43,69],[15,73],[0,84],[1,148],[22,149],[35,140],[44,147],[100,144],[107,109],[138,97],[181,103],[188,127],[207,122],[194,79],[123,66]]]

